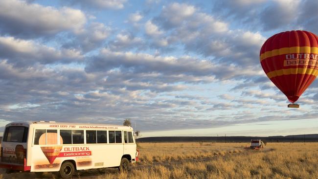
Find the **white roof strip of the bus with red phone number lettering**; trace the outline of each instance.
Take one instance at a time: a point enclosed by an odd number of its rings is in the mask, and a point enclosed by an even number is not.
[[[121,126],[114,124],[94,124],[94,123],[73,123],[73,122],[55,122],[55,121],[15,121],[7,124],[8,126],[37,126],[37,127],[47,127],[47,128],[58,128],[58,129],[123,129],[123,130],[133,130],[129,126]],[[75,127],[72,127],[75,126]]]

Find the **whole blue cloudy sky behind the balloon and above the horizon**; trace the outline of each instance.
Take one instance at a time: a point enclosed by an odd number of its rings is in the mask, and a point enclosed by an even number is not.
[[[318,34],[317,0],[0,0],[0,129],[121,125],[141,137],[317,134],[317,80],[299,109],[259,51]]]

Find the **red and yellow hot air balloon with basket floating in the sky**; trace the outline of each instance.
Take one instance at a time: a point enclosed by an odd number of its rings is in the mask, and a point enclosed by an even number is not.
[[[302,30],[273,35],[262,46],[260,62],[266,75],[292,103],[318,75],[318,36]]]

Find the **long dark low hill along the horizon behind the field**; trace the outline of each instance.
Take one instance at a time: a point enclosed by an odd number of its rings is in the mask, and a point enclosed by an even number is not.
[[[195,136],[195,137],[143,137],[138,142],[250,142],[261,139],[266,142],[318,142],[318,134],[287,135],[287,136]]]

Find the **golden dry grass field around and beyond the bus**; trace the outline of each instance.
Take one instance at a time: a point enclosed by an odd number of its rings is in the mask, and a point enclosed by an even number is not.
[[[78,179],[318,179],[318,143],[138,143],[140,161],[128,173],[116,169],[81,171]],[[7,178],[35,178],[2,174]],[[45,174],[44,178],[56,178]]]

